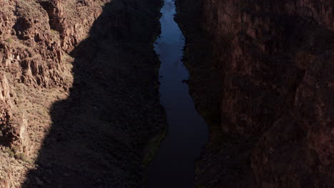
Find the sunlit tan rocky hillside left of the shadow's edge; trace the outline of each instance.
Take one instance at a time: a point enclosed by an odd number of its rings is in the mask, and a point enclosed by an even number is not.
[[[11,155],[36,157],[49,108],[73,83],[69,52],[104,3],[0,0],[0,144],[14,148],[1,148],[0,187],[17,187],[24,177],[26,168],[10,164]]]

